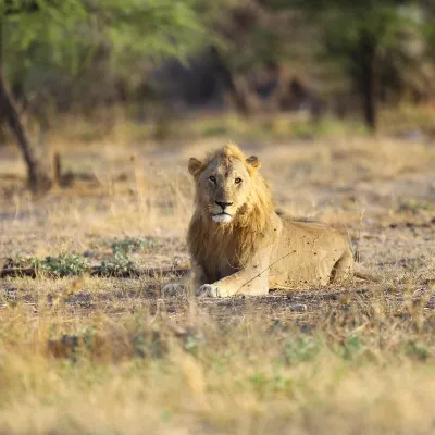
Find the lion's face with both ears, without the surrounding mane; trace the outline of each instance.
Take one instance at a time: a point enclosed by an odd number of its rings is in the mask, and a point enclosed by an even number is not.
[[[197,199],[202,212],[219,224],[227,224],[249,208],[252,171],[260,166],[256,157],[240,161],[219,156],[207,165],[189,160],[189,172],[197,181]]]

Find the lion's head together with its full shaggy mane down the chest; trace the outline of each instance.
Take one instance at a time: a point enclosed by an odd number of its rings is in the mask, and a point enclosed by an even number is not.
[[[195,213],[187,243],[194,262],[210,277],[222,268],[240,268],[259,244],[274,237],[274,204],[257,157],[229,144],[203,161],[189,160],[195,177]]]

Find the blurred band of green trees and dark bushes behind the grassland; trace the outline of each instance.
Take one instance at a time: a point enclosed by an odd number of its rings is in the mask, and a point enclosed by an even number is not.
[[[232,135],[228,113],[254,134],[265,116],[289,135],[291,113],[300,136],[434,135],[434,47],[432,0],[0,0],[0,146],[45,190],[61,120],[104,114],[107,133],[127,120],[157,140],[198,115],[201,134]]]

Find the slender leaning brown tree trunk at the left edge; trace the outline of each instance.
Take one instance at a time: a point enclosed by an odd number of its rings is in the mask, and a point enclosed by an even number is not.
[[[46,191],[51,186],[51,179],[44,171],[42,163],[37,159],[35,149],[26,134],[24,125],[20,119],[12,94],[9,91],[3,76],[2,57],[2,23],[0,18],[0,117],[9,124],[16,142],[27,165],[28,186],[33,191]]]

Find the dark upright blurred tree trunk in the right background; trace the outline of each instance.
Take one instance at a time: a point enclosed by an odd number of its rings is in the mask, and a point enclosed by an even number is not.
[[[377,128],[377,59],[376,40],[372,35],[363,33],[360,38],[360,89],[363,100],[363,113],[368,127]]]

